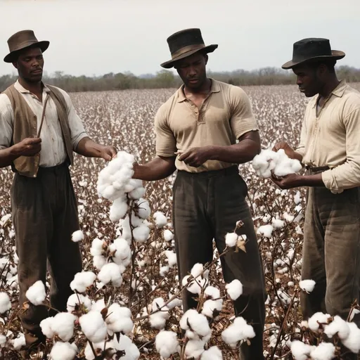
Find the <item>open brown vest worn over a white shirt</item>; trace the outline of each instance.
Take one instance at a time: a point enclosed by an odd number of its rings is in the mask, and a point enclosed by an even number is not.
[[[63,140],[65,141],[65,149],[68,154],[68,160],[72,165],[74,158],[72,155],[72,143],[70,136],[70,128],[68,123],[68,110],[63,94],[53,86],[49,86],[51,90],[49,96],[56,105],[58,119],[60,121],[61,131],[63,133]],[[11,101],[14,112],[13,122],[13,139],[11,145],[20,143],[25,138],[34,138],[37,136],[37,116],[34,115],[30,106],[27,105],[25,98],[11,85],[4,91]],[[20,156],[15,159],[11,168],[13,172],[18,172],[20,175],[27,177],[36,177],[39,169],[40,153],[34,156]]]

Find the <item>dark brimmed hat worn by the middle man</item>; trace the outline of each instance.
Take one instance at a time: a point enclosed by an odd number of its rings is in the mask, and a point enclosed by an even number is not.
[[[172,68],[175,61],[191,56],[200,50],[212,53],[217,49],[216,44],[205,46],[201,31],[197,28],[175,32],[167,38],[167,44],[169,44],[172,60],[165,61],[160,65],[165,69]]]

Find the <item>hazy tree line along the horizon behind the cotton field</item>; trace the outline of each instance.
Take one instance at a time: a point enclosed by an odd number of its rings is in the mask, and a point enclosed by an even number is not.
[[[360,82],[360,69],[349,66],[339,66],[336,72],[340,79],[347,82]],[[209,77],[236,86],[252,85],[286,85],[295,84],[295,75],[291,71],[278,68],[261,68],[259,70],[234,70],[231,72],[207,72]],[[13,84],[16,75],[0,77],[0,91]],[[181,79],[169,70],[162,70],[155,75],[136,76],[131,72],[110,72],[99,77],[73,76],[64,72],[55,72],[53,75],[44,75],[44,82],[59,86],[68,92],[79,91],[111,91],[125,89],[163,89],[177,88]]]

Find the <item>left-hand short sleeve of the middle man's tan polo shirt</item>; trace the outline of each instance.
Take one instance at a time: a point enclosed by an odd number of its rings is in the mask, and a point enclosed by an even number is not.
[[[175,156],[177,148],[174,133],[169,128],[167,120],[167,110],[164,104],[160,106],[155,115],[156,155],[171,157]]]

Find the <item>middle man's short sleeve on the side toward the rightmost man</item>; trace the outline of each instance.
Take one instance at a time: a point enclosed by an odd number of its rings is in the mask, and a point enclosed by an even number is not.
[[[236,139],[248,131],[259,130],[248,95],[238,86],[231,89],[231,130]]]

